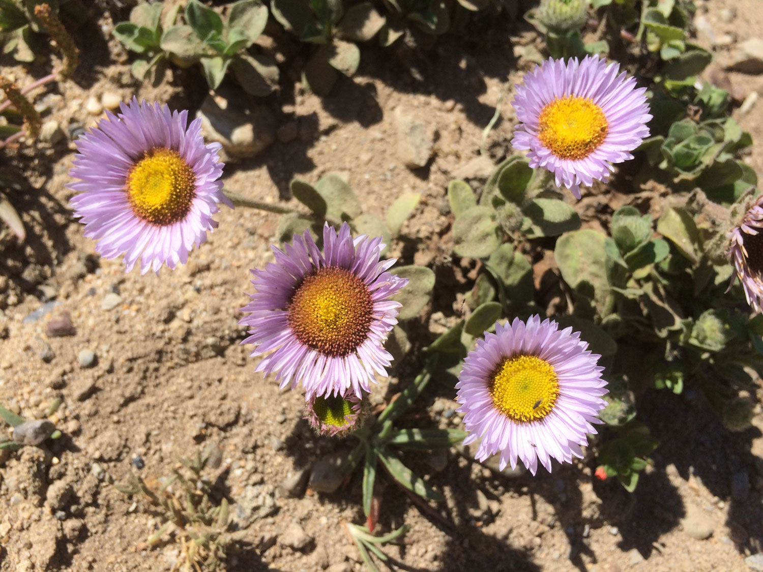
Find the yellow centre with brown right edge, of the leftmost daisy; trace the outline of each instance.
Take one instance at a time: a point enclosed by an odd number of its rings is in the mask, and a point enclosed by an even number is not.
[[[127,200],[143,220],[164,226],[185,218],[196,196],[196,176],[177,151],[146,151],[127,175]]]

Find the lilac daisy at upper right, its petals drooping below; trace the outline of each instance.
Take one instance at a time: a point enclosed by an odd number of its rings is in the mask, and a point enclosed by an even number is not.
[[[607,181],[610,162],[633,159],[630,152],[649,137],[646,88],[618,72],[598,56],[548,59],[515,86],[520,124],[511,145],[529,149],[530,166],[548,169],[576,198],[581,184]]]

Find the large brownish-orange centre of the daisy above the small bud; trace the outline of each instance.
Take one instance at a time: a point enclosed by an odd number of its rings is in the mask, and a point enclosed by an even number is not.
[[[365,341],[373,317],[371,292],[345,268],[320,268],[307,276],[288,306],[288,323],[297,339],[325,355],[355,352]]]

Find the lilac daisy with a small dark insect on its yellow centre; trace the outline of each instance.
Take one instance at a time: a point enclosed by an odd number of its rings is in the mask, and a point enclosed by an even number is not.
[[[501,470],[522,461],[532,474],[538,463],[551,471],[551,459],[582,457],[587,433],[607,405],[599,355],[587,350],[579,333],[551,320],[515,318],[495,325],[495,333],[466,356],[456,384],[470,433],[464,445],[481,438],[476,458],[500,452]]]

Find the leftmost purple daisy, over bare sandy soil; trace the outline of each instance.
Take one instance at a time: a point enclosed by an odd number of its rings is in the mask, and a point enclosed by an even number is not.
[[[105,259],[124,254],[126,272],[140,259],[140,273],[185,264],[188,252],[207,239],[219,204],[233,204],[217,179],[220,143],[204,144],[201,120],[186,128],[188,111],[169,111],[133,98],[107,112],[77,141],[79,155],[67,185],[85,236]]]

